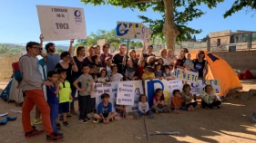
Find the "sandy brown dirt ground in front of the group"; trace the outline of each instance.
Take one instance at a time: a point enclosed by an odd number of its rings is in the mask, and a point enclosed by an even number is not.
[[[256,89],[256,80],[241,81],[243,91]],[[0,84],[4,89],[5,84]],[[108,125],[89,122],[82,124],[77,116],[68,119],[70,127],[63,127],[65,139],[62,142],[91,142],[91,143],[175,143],[175,142],[222,142],[248,143],[256,142],[256,126],[251,122],[251,115],[256,107],[256,96],[249,100],[234,98],[221,104],[219,110],[196,109],[180,111],[179,114],[154,114],[154,119],[145,119],[148,133],[179,131],[179,135],[144,136],[146,133],[144,118],[133,120],[116,120]],[[21,110],[14,103],[8,104],[0,100],[0,113],[8,112],[9,116],[17,117],[5,126],[0,126],[1,143],[46,142],[46,133],[35,138],[24,138],[21,114],[10,110]],[[35,111],[31,113],[33,118]],[[0,119],[3,119],[0,118]],[[42,124],[36,125],[43,129]]]

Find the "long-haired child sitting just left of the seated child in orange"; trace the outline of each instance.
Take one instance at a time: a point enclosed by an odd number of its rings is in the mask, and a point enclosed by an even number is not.
[[[159,113],[159,112],[168,113],[170,111],[162,89],[157,89],[155,91],[155,96],[153,98],[152,110],[155,110],[156,113]]]

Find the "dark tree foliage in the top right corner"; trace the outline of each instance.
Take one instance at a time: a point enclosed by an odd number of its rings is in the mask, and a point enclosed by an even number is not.
[[[234,14],[238,11],[241,11],[241,9],[247,8],[246,12],[249,13],[250,11],[253,11],[256,9],[256,1],[255,0],[236,0],[233,5],[230,7],[228,11],[224,14],[224,18],[230,16],[231,14]]]

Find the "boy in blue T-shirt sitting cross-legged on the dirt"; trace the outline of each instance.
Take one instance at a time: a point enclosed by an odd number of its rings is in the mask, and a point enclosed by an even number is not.
[[[120,119],[117,117],[117,112],[112,112],[112,103],[109,102],[109,94],[103,93],[100,98],[102,101],[97,105],[97,114],[93,114],[94,122],[108,124],[109,121]]]

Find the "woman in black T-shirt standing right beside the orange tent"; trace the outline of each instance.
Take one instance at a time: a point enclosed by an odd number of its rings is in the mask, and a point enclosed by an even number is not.
[[[194,62],[194,69],[199,71],[199,80],[205,80],[205,76],[207,75],[208,69],[207,64],[208,62],[204,60],[205,54],[203,51],[199,51],[196,55],[196,59],[193,60]]]

